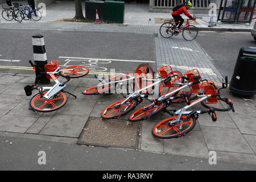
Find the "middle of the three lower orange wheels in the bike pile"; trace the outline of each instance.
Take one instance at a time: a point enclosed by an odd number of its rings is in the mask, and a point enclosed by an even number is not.
[[[161,110],[163,110],[164,108],[166,108],[166,103],[161,103],[159,105],[146,105],[144,107],[141,107],[140,109],[134,111],[134,113],[132,113],[129,117],[129,121],[131,122],[135,122],[135,121],[141,121],[143,119],[148,119],[150,118],[152,115],[155,115],[157,113],[159,113]]]

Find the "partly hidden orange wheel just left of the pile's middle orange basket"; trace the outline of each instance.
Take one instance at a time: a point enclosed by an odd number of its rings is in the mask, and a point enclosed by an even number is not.
[[[160,95],[163,96],[167,93],[170,93],[174,91],[175,89],[179,88],[181,85],[177,83],[184,83],[184,78],[182,77],[181,72],[179,71],[173,71],[174,77],[172,77],[171,81],[168,81],[167,84],[164,84],[164,82],[160,85]],[[171,94],[169,97],[176,96],[176,94],[179,92],[175,92]]]

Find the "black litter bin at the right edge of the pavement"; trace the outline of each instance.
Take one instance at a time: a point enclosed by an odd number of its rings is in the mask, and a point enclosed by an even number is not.
[[[256,47],[240,48],[229,90],[241,96],[256,93]]]

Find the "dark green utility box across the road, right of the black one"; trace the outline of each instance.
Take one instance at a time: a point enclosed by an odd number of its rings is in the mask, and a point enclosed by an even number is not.
[[[125,20],[124,1],[105,1],[104,22],[123,23]]]

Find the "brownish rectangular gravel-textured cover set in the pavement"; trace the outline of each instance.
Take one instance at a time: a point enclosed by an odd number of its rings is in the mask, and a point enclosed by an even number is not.
[[[138,147],[140,127],[141,122],[127,125],[127,121],[121,119],[89,118],[77,143],[135,150]]]

